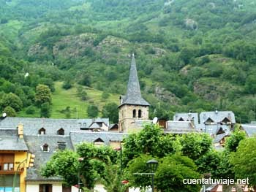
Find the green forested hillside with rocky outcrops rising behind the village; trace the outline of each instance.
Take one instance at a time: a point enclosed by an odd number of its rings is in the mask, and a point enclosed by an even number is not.
[[[36,97],[39,84],[54,95],[60,81],[63,91],[77,89],[85,108],[102,110],[102,102],[113,103],[109,96],[118,103],[113,93],[126,92],[135,53],[151,117],[218,109],[250,122],[255,29],[252,0],[0,0],[1,111],[38,117],[45,107],[55,112],[45,116],[62,117],[56,100],[47,105]],[[93,101],[87,88],[102,93],[102,101]]]

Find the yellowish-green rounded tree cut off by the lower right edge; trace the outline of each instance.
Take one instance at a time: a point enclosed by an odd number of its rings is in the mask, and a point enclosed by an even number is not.
[[[249,185],[256,190],[256,137],[241,140],[235,153],[230,156],[236,178],[249,178]]]

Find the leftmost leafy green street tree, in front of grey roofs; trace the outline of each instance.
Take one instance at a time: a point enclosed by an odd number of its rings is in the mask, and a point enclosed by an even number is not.
[[[77,150],[58,150],[42,167],[44,177],[61,177],[67,185],[78,184],[78,174],[85,189],[91,190],[99,178],[108,178],[106,164],[116,163],[117,153],[110,147],[83,143]],[[67,172],[67,169],[69,170]]]

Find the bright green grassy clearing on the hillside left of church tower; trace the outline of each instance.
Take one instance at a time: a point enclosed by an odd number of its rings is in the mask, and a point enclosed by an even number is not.
[[[86,110],[90,104],[97,105],[99,110],[102,110],[102,107],[110,102],[115,102],[118,104],[118,94],[110,94],[108,99],[102,101],[102,91],[89,87],[83,87],[87,93],[88,99],[86,101],[82,101],[77,96],[77,88],[75,88],[76,85],[69,90],[65,90],[62,88],[62,83],[63,82],[55,82],[56,91],[54,91],[52,94],[50,118],[88,118]],[[70,116],[67,116],[66,113],[61,112],[67,107],[70,107]],[[34,115],[27,115],[25,111],[26,110],[22,110],[21,112],[18,112],[18,117],[39,117],[39,109],[36,110]],[[101,114],[99,113],[99,116],[100,115]]]

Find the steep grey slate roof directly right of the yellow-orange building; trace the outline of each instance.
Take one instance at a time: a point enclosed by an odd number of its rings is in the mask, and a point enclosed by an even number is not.
[[[58,142],[65,142],[67,149],[73,150],[72,143],[69,136],[49,136],[49,135],[39,135],[39,136],[28,136],[25,135],[24,139],[29,147],[29,151],[36,155],[34,159],[34,166],[28,169],[26,180],[61,180],[60,177],[42,177],[39,170],[47,161],[53,153],[58,150]],[[47,144],[49,146],[49,152],[42,151],[42,145]],[[67,167],[68,169],[68,167]]]

